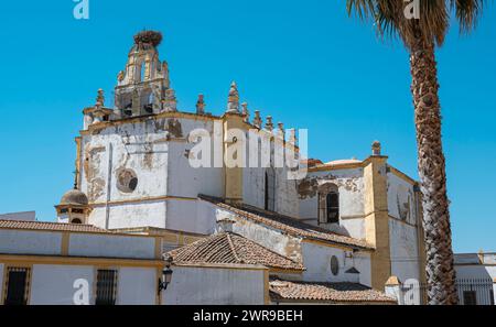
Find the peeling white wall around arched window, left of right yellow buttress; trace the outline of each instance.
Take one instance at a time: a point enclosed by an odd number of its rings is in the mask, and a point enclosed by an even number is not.
[[[321,224],[323,228],[342,232],[357,239],[365,238],[364,225],[364,171],[363,168],[312,172],[300,181],[300,218],[317,225],[317,189],[326,183],[337,185],[339,192],[339,225]]]

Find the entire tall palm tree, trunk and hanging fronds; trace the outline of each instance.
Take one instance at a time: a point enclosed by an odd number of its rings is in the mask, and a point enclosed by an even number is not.
[[[416,1],[419,15],[409,19]],[[410,53],[418,168],[423,205],[429,304],[456,304],[445,160],[434,50],[441,46],[454,12],[461,32],[476,24],[484,0],[346,0],[349,15],[371,19],[380,36],[399,37]]]

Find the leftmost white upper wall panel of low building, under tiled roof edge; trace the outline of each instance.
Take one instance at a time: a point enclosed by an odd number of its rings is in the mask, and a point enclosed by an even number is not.
[[[62,233],[31,230],[0,230],[0,253],[60,254]]]

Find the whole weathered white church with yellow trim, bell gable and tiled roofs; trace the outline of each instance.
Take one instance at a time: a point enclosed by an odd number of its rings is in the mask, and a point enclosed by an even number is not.
[[[381,293],[390,276],[424,280],[417,182],[387,163],[378,142],[363,161],[309,160],[305,177],[289,178],[294,167],[277,163],[280,149],[299,159],[294,134],[284,137],[283,124],[274,129],[270,116],[263,124],[259,111],[250,119],[235,83],[220,116],[205,112],[203,95],[195,112],[179,111],[168,64],[159,59],[160,41],[157,32],[136,35],[118,75],[115,106],[106,107],[99,90],[96,105],[84,109],[75,187],[56,206],[60,224],[51,225],[66,230],[58,243],[30,248],[29,260],[37,262],[44,254],[36,251],[52,249],[54,261],[44,269],[56,275],[58,264],[66,269],[63,262],[90,257],[80,269],[85,277],[93,272],[88,281],[95,284],[98,260],[119,258],[119,273],[134,274],[144,286],[118,284],[117,304],[391,303]],[[211,145],[201,155],[198,130]],[[251,140],[260,145],[255,154],[238,148]],[[269,153],[270,160],[267,166],[224,164],[233,153],[257,162]],[[194,166],[192,160],[213,165]],[[83,226],[95,229],[91,237],[78,236]],[[6,255],[23,247],[18,236],[11,240]],[[202,255],[177,254],[198,247]],[[158,296],[165,265],[159,259],[166,252],[174,273]],[[25,279],[51,287],[34,268]],[[78,276],[61,274],[67,283]],[[28,303],[68,303],[68,285],[46,297],[34,293]]]

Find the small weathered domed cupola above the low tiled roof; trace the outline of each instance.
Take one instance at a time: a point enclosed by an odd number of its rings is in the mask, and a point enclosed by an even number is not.
[[[67,190],[55,206],[58,222],[87,224],[88,197],[77,188]]]

